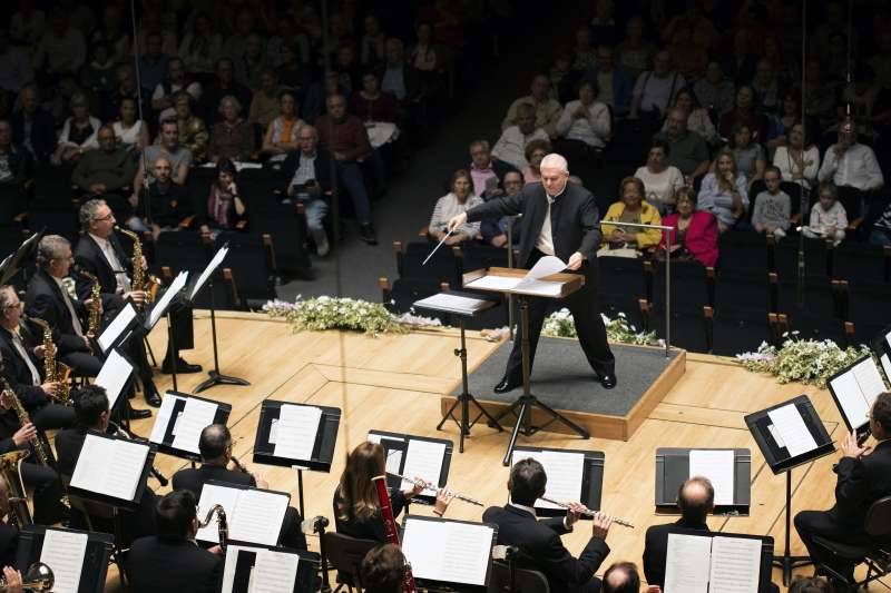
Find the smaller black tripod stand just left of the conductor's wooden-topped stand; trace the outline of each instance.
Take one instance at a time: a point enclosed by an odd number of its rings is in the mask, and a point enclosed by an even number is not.
[[[461,393],[458,394],[454,403],[446,412],[446,415],[442,417],[440,423],[437,424],[437,431],[442,429],[442,425],[446,424],[446,421],[454,421],[460,432],[458,445],[459,453],[464,452],[464,436],[470,436],[470,428],[472,428],[473,425],[477,424],[477,422],[483,416],[489,419],[489,426],[498,428],[499,433],[503,432],[503,428],[500,424],[498,424],[498,421],[495,418],[495,416],[489,414],[489,412],[487,412],[486,408],[482,407],[479,402],[477,402],[477,398],[471,395],[467,380],[467,339],[464,335],[464,318],[472,318],[477,314],[488,310],[497,305],[498,299],[459,291],[439,293],[438,295],[415,300],[413,305],[420,309],[432,310],[434,313],[449,313],[458,316],[458,327],[461,332],[461,347],[456,348],[454,355],[461,360]],[[473,421],[469,419],[471,405],[473,405],[479,412]],[[461,406],[460,419],[454,417],[454,409],[458,406]]]

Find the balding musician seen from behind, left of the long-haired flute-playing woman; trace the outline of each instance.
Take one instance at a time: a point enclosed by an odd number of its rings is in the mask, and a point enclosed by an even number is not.
[[[204,485],[216,480],[229,484],[268,488],[270,484],[258,474],[247,468],[241,471],[232,456],[232,434],[223,424],[212,424],[202,431],[198,438],[198,451],[202,454],[202,466],[187,467],[174,474],[174,490],[190,491],[196,500],[200,500]],[[229,464],[233,470],[229,470]],[[306,550],[306,537],[301,531],[303,518],[293,506],[285,512],[280,541],[283,546],[294,550]]]

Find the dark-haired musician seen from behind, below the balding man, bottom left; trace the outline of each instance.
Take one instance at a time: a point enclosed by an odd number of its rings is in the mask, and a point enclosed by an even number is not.
[[[219,546],[207,551],[195,545],[196,505],[189,491],[170,492],[158,501],[157,535],[136,540],[127,559],[134,593],[217,591],[223,573],[222,551]]]

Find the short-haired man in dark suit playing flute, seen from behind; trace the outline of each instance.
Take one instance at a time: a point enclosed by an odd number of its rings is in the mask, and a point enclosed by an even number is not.
[[[609,554],[606,536],[613,517],[597,513],[591,525],[591,537],[578,559],[564,547],[560,535],[572,531],[585,506],[569,503],[565,517],[538,521],[536,500],[545,495],[548,476],[536,459],[522,459],[510,471],[508,491],[510,503],[503,507],[490,506],[482,521],[498,525],[498,543],[520,548],[518,566],[541,571],[554,593],[600,590],[594,576]]]

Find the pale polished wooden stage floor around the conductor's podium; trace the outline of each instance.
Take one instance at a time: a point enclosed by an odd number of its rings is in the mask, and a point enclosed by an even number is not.
[[[331,474],[305,473],[306,514],[332,517],[332,494],[346,453],[361,443],[371,428],[425,436],[452,438],[449,486],[483,501],[501,505],[507,500],[508,470],[501,457],[508,434],[498,434],[480,425],[458,454],[458,429],[453,423],[442,432],[440,397],[460,380],[457,330],[415,332],[409,335],[365,337],[337,332],[292,334],[288,326],[262,314],[221,314],[217,316],[221,369],[243,377],[249,387],[217,386],[202,395],[232,404],[229,418],[235,455],[249,462],[261,403],[274,398],[295,403],[336,406],[343,411],[335,461]],[[199,347],[185,353],[205,370],[213,364],[210,326],[206,313],[196,312],[195,343]],[[150,342],[157,356],[164,356],[166,333],[156,329]],[[468,335],[469,366],[476,368],[495,348],[477,333]],[[180,375],[179,389],[189,392],[205,378]],[[621,377],[619,377],[621,380]],[[161,392],[170,385],[168,375],[157,375]],[[631,561],[640,565],[644,532],[648,525],[674,521],[657,516],[654,510],[654,455],[656,447],[714,446],[752,449],[752,513],[748,517],[713,517],[713,530],[752,534],[770,534],[782,551],[784,535],[785,480],[774,476],[745,428],[743,416],[802,393],[813,401],[832,438],[839,442],[844,425],[824,389],[801,385],[779,385],[771,377],[751,374],[726,358],[688,354],[686,373],[667,392],[628,442],[597,438],[589,441],[566,435],[540,433],[521,444],[603,451],[606,454],[604,510],[637,526],[615,526],[608,537],[613,550],[607,564]],[[140,399],[135,401],[143,405]],[[153,419],[134,423],[134,429],[148,435]],[[839,454],[830,455],[793,472],[793,513],[805,508],[828,508],[833,502],[835,475],[832,464]],[[166,475],[185,466],[185,462],[158,455],[157,467]],[[253,465],[253,464],[252,464]],[[296,504],[296,471],[257,466],[274,490],[287,491]],[[149,483],[157,486],[154,480]],[[158,492],[164,492],[160,488]],[[419,513],[429,508],[419,507]],[[456,501],[448,516],[479,521],[478,507]],[[333,521],[332,521],[333,524]],[[564,537],[574,553],[581,551],[588,537],[587,524]],[[311,538],[311,546],[317,541]],[[317,548],[317,547],[316,547]],[[794,534],[794,554],[804,548]],[[604,570],[606,565],[604,566]],[[810,574],[811,567],[799,572]],[[112,573],[114,571],[109,571]],[[116,581],[116,577],[111,577]],[[780,582],[774,571],[774,582]],[[874,584],[874,591],[891,589]]]

